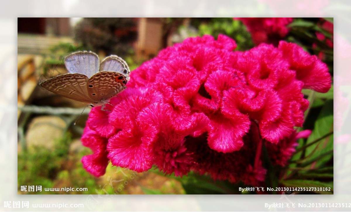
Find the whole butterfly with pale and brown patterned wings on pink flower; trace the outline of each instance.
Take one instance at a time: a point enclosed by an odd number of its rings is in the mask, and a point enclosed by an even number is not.
[[[126,89],[130,79],[127,63],[117,55],[104,58],[91,51],[77,51],[65,58],[69,73],[48,79],[40,85],[69,99],[105,106],[108,101]]]

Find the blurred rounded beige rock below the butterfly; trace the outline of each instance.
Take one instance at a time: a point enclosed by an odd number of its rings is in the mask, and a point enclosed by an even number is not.
[[[34,146],[53,148],[54,141],[64,135],[66,125],[66,122],[58,116],[39,116],[34,118],[29,124],[26,133],[28,149]]]

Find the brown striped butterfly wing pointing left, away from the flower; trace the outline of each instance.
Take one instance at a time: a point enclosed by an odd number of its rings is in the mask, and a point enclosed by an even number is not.
[[[48,79],[40,85],[45,89],[69,99],[94,103],[87,91],[88,77],[78,73],[65,74]]]

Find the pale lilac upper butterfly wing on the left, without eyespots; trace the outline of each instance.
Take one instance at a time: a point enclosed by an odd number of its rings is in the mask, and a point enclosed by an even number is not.
[[[77,51],[65,58],[65,65],[69,73],[79,73],[90,78],[99,71],[99,57],[91,51]]]

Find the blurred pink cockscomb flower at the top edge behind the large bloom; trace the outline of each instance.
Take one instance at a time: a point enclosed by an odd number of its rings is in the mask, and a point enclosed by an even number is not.
[[[234,19],[240,20],[245,24],[256,45],[260,43],[278,45],[278,42],[289,33],[287,25],[292,22],[291,17],[246,17]]]

